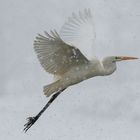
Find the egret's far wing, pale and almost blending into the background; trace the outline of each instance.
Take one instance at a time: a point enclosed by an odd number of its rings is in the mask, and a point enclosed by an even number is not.
[[[87,58],[92,59],[96,33],[90,9],[79,11],[79,14],[73,13],[62,26],[60,36],[66,43],[76,46]]]

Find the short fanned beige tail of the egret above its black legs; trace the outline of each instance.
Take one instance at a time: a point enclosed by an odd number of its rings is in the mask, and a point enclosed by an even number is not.
[[[43,87],[43,92],[47,97],[59,90],[62,90],[59,80]]]

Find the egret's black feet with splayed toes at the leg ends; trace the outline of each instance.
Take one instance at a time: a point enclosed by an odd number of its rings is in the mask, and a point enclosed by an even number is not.
[[[27,132],[27,130],[36,122],[37,117],[28,117],[27,123],[24,125],[23,131]]]

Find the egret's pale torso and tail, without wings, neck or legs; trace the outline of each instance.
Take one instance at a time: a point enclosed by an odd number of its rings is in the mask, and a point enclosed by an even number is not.
[[[98,59],[89,61],[88,63],[72,67],[63,75],[59,75],[57,81],[44,87],[44,93],[46,96],[50,96],[60,89],[67,88],[94,76],[103,76],[105,74],[102,62]]]

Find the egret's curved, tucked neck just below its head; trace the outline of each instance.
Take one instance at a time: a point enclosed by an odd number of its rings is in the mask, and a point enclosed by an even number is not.
[[[104,75],[110,75],[116,70],[116,62],[112,61],[102,61],[103,67],[104,67]]]

